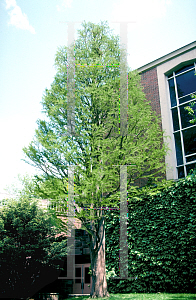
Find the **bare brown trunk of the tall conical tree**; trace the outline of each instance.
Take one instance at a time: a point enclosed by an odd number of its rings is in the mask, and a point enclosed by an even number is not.
[[[92,289],[91,297],[109,297],[105,268],[105,224],[104,217],[99,221],[97,237],[92,238],[90,247]]]

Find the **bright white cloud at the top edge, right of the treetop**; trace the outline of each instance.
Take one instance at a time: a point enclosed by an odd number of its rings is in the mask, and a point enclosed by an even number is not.
[[[121,0],[114,4],[112,19],[144,23],[163,17],[171,0]]]

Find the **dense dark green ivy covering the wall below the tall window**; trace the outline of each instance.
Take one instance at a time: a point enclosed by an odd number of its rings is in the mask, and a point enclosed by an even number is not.
[[[110,279],[110,292],[196,290],[196,174],[170,185],[155,195],[129,199],[128,268],[132,279]],[[119,229],[118,212],[108,212],[106,263],[117,276]]]

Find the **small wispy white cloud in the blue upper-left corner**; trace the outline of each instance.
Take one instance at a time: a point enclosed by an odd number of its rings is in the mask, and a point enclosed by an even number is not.
[[[22,12],[15,0],[6,0],[6,9],[10,8],[11,11],[9,11],[9,24],[23,30],[28,30],[32,34],[35,34],[35,29],[29,24],[27,15]]]

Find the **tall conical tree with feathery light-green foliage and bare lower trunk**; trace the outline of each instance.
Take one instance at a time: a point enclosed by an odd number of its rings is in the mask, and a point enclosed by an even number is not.
[[[127,132],[119,132],[122,55],[119,37],[106,23],[83,23],[75,45],[57,51],[57,73],[42,101],[47,121],[38,120],[35,138],[24,148],[26,161],[43,171],[44,176],[37,177],[40,191],[47,185],[50,197],[51,190],[59,187],[65,209],[68,173],[74,166],[75,214],[89,234],[93,298],[109,295],[104,210],[119,208],[120,166],[131,165],[127,167],[130,194],[137,192],[134,180],[158,181],[158,174],[165,172],[167,147],[159,119],[136,72],[128,75]],[[46,197],[46,188],[44,193]]]

